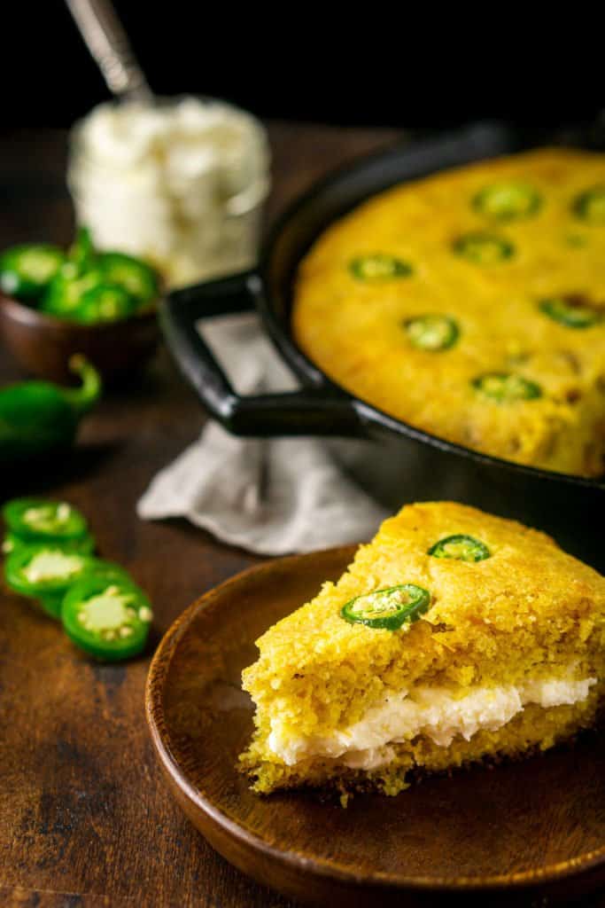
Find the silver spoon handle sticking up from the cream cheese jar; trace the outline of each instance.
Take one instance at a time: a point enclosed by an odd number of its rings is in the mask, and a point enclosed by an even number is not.
[[[151,88],[111,0],[65,2],[112,94],[151,102]]]

